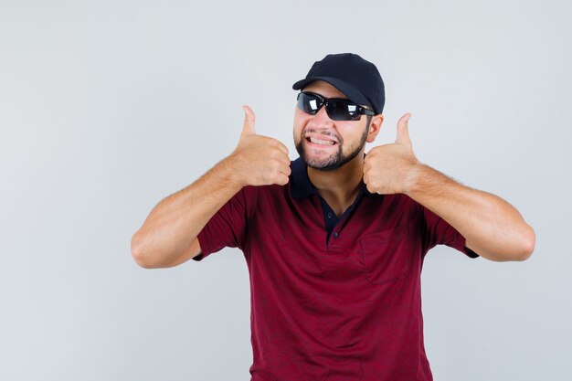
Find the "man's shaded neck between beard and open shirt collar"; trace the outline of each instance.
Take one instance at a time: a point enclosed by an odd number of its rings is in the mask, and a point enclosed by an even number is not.
[[[336,215],[352,205],[364,177],[364,153],[332,171],[308,167],[308,177],[323,199],[334,209]]]

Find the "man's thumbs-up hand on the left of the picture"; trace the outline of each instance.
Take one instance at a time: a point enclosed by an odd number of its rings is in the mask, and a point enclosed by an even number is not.
[[[276,139],[258,135],[254,112],[243,106],[245,117],[237,148],[229,156],[244,185],[286,185],[291,174],[288,148]]]

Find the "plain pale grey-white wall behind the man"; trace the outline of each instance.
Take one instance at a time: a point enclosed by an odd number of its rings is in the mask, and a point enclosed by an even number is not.
[[[244,103],[294,159],[291,84],[347,51],[386,82],[377,144],[411,112],[422,162],[535,228],[525,262],[429,252],[435,379],[572,379],[571,16],[565,0],[1,0],[0,379],[249,380],[242,254],[144,270],[131,237],[232,152]]]

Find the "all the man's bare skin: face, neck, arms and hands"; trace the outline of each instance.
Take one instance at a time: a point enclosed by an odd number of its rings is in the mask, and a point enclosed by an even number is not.
[[[312,82],[304,90],[325,98],[345,98],[323,81]],[[173,267],[200,254],[196,236],[242,187],[288,183],[288,148],[276,139],[257,134],[254,112],[248,106],[244,106],[244,111],[245,120],[234,152],[193,184],[164,198],[133,235],[132,257],[143,268]],[[407,113],[397,122],[394,143],[372,148],[364,160],[364,135],[365,142],[375,141],[383,115],[375,115],[366,126],[365,116],[360,121],[332,121],[324,109],[315,115],[294,111],[294,142],[315,166],[308,167],[308,175],[328,205],[341,215],[354,202],[363,179],[371,193],[405,194],[429,208],[461,233],[466,247],[485,259],[528,259],[535,248],[533,228],[502,198],[461,185],[420,163],[409,137],[409,118]],[[308,143],[305,137],[311,134],[341,144]],[[343,166],[331,171],[318,169],[339,149],[344,156],[356,148],[359,153]]]

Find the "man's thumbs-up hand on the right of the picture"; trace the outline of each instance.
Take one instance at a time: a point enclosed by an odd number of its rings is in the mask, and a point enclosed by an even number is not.
[[[413,186],[419,161],[409,139],[408,122],[411,114],[397,121],[395,143],[379,145],[365,155],[364,183],[371,193],[390,195],[408,193]]]

